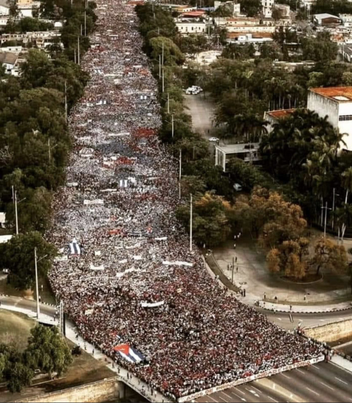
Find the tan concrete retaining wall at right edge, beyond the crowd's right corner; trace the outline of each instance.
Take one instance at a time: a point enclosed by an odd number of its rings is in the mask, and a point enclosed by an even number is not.
[[[336,341],[352,336],[352,319],[329,323],[304,330],[304,334],[319,341]]]

